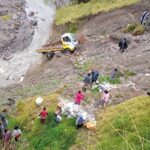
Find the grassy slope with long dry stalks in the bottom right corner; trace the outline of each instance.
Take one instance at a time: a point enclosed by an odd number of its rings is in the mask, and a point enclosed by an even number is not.
[[[149,107],[150,97],[140,96],[106,108],[97,114],[96,132],[82,130],[71,150],[149,150]]]

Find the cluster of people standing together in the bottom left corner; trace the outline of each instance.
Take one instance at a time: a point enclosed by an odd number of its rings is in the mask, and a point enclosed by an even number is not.
[[[7,129],[8,121],[4,114],[0,114],[0,139],[3,143],[4,149],[9,149],[11,142],[19,141],[21,136],[21,129],[18,126],[14,127],[13,131]]]

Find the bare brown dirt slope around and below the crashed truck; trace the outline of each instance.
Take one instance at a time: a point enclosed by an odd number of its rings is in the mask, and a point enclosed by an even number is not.
[[[136,73],[127,79],[122,78],[122,84],[117,86],[117,90],[112,91],[113,103],[120,103],[145,93],[150,84],[150,32],[133,37],[124,34],[121,29],[129,22],[139,22],[141,14],[147,8],[150,8],[149,3],[143,2],[86,18],[78,27],[78,33],[86,37],[86,42],[80,45],[78,52],[70,56],[55,56],[51,61],[41,56],[41,62],[28,71],[22,84],[26,87],[42,83],[44,88],[40,87],[40,91],[43,94],[67,84],[66,93],[73,97],[76,90],[81,88],[83,75],[75,64],[84,61],[88,66],[81,72],[97,68],[102,74],[109,75],[110,70],[117,67],[120,71]],[[123,35],[130,40],[129,48],[124,54],[119,52],[118,40],[110,38],[112,34],[119,37]],[[5,93],[3,92],[3,97]],[[7,97],[9,95],[13,95],[10,88]]]

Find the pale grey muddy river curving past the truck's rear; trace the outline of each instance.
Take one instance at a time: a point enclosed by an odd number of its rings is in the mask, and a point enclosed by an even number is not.
[[[38,20],[33,40],[27,50],[14,54],[12,59],[0,59],[0,87],[5,87],[23,80],[28,69],[39,62],[41,54],[35,52],[50,36],[50,25],[53,22],[55,9],[45,4],[44,0],[26,0],[26,12],[35,12],[34,19]],[[29,18],[31,19],[31,18]]]

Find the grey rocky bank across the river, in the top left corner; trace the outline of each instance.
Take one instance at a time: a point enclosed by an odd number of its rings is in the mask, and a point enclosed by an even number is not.
[[[25,0],[0,0],[0,57],[3,59],[23,51],[32,40],[34,27],[25,5]]]

